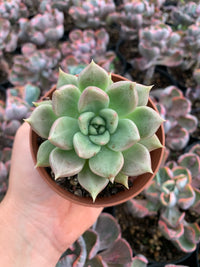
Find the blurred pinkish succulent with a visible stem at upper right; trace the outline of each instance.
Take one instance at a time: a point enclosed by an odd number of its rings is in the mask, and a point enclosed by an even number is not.
[[[131,64],[139,70],[147,70],[145,82],[150,82],[156,65],[175,67],[183,61],[183,51],[179,42],[179,32],[164,23],[151,25],[139,31],[138,50],[140,58]]]

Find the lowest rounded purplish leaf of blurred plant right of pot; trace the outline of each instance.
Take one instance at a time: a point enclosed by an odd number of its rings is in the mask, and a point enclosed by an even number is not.
[[[177,125],[167,132],[166,145],[172,150],[180,151],[187,145],[189,137],[188,131]]]

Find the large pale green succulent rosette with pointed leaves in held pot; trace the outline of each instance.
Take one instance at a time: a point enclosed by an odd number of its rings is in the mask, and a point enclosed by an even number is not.
[[[50,166],[55,179],[77,175],[93,201],[109,182],[128,188],[128,176],[152,173],[149,151],[162,147],[155,132],[163,119],[146,106],[150,89],[113,83],[94,61],[78,77],[60,70],[52,100],[26,120],[46,139],[37,166]]]

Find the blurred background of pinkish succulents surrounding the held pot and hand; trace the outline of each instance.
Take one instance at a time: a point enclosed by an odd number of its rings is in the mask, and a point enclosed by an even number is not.
[[[162,201],[159,200],[156,212],[159,213],[161,234],[172,239],[169,233],[173,232],[175,236],[181,229],[178,238],[183,236],[187,239],[189,236],[190,244],[192,242],[196,248],[199,242],[198,227],[195,228],[195,235],[190,234],[192,227],[188,230],[189,222],[185,214],[195,213],[196,219],[191,223],[196,226],[200,224],[198,0],[0,0],[1,199],[7,190],[13,139],[23,119],[32,111],[32,102],[56,83],[59,67],[78,74],[92,59],[107,71],[138,83],[154,85],[151,97],[166,120],[166,151],[159,172],[164,179],[159,181],[157,177],[138,198],[150,201],[151,189],[158,189],[162,184],[162,192],[155,190],[156,195],[165,193],[164,200],[171,199],[173,195],[173,207],[179,210],[180,216],[176,227],[169,224],[166,205],[161,208]],[[185,171],[177,174],[176,170],[180,168]],[[183,184],[191,190],[183,189]],[[186,210],[185,206],[179,205],[179,202],[184,202],[180,199],[185,198],[187,202],[189,198],[192,201],[192,196],[194,201]],[[144,203],[141,206],[134,204],[138,215]],[[128,210],[131,216],[136,216],[133,215],[133,208],[129,207]],[[144,217],[148,217],[149,211],[145,212]],[[99,239],[97,236],[94,226],[74,244],[71,251],[76,255],[68,260],[62,258],[59,266],[72,266],[72,263],[73,266],[97,266],[96,261],[98,266],[118,264],[115,266],[134,267],[134,262],[141,264],[136,266],[147,264],[143,256],[136,256],[132,263],[121,258],[118,263],[109,261],[109,253],[112,257],[118,255],[113,252],[113,247],[117,251],[122,242],[128,251],[129,245],[116,237],[110,245],[111,251],[106,252],[107,247],[95,245],[94,240]],[[91,251],[87,250],[85,265],[75,265],[86,240],[93,240],[95,244],[90,243]],[[179,249],[182,247],[179,242]],[[104,253],[103,256],[101,253]],[[100,258],[106,263],[99,263]],[[67,262],[65,265],[64,261]]]

